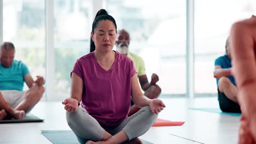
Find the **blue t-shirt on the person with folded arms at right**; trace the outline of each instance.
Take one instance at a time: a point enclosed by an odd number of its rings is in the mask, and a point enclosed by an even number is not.
[[[231,68],[231,59],[227,55],[224,55],[222,57],[219,57],[215,60],[214,65],[219,65],[223,69]],[[228,76],[229,80],[236,86],[235,78],[232,75]],[[218,86],[219,79],[217,79],[217,86]]]

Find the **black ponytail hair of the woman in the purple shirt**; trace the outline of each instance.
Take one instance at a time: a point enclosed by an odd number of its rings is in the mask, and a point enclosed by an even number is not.
[[[97,27],[98,22],[100,22],[102,20],[112,21],[115,25],[115,32],[117,32],[117,23],[115,23],[115,19],[111,15],[108,15],[108,12],[106,10],[101,9],[96,14],[94,22],[92,22],[92,29],[91,29],[92,33],[94,33],[94,29]],[[91,40],[90,40],[90,52],[93,52],[93,51],[95,51],[95,44],[94,44],[94,41],[92,41],[92,38],[91,38]]]

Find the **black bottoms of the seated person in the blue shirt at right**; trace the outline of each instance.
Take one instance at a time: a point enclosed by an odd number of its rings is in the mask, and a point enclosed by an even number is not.
[[[218,98],[219,98],[220,110],[222,110],[223,112],[240,112],[241,113],[240,105],[238,105],[234,101],[227,98],[224,93],[219,92],[219,89],[218,89]]]

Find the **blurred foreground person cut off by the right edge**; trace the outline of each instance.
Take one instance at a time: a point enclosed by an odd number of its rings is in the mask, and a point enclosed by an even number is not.
[[[256,143],[256,17],[234,23],[230,39],[242,111],[238,143]]]

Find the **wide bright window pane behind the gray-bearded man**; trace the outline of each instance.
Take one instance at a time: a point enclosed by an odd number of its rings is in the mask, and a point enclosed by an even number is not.
[[[106,0],[118,29],[130,33],[130,52],[141,56],[148,80],[159,75],[162,94],[186,92],[186,1]]]

